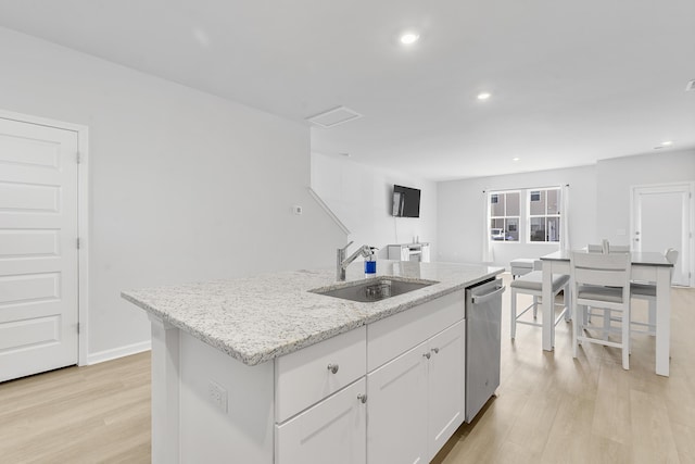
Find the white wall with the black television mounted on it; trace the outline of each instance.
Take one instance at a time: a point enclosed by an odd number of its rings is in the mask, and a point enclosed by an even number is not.
[[[419,188],[420,217],[393,217],[393,185]],[[349,240],[378,247],[387,256],[387,244],[410,243],[419,236],[435,252],[437,184],[394,171],[380,171],[345,158],[312,153],[312,188],[350,229]]]

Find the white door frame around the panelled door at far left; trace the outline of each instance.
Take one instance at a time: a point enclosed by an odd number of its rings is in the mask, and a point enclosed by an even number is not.
[[[77,250],[77,323],[79,324],[77,365],[87,365],[87,354],[89,353],[89,337],[87,337],[89,328],[89,128],[81,124],[65,123],[3,109],[0,109],[0,117],[18,123],[72,130],[77,134],[77,152],[79,153],[79,163],[77,164],[77,234],[79,235],[79,249]]]

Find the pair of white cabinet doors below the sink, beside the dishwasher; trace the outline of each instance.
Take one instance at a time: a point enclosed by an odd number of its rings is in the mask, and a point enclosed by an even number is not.
[[[459,321],[368,374],[367,463],[429,462],[462,424],[464,337]]]

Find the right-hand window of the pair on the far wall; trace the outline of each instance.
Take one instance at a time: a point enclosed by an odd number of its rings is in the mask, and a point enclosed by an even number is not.
[[[560,241],[560,189],[529,190],[529,241]]]

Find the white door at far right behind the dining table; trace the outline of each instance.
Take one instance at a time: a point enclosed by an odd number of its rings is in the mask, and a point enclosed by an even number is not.
[[[633,250],[677,249],[673,284],[683,286],[692,285],[691,197],[690,184],[633,187]]]

